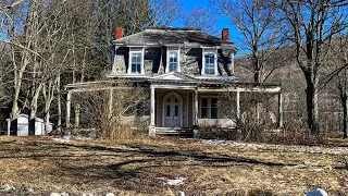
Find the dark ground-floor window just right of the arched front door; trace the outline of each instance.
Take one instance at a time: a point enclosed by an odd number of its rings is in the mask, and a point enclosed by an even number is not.
[[[200,117],[201,119],[217,119],[217,98],[201,98]]]

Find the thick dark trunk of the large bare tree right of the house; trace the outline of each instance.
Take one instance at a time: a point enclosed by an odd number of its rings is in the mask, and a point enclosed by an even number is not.
[[[311,79],[311,72],[304,73],[307,81],[306,100],[308,126],[313,134],[319,135],[319,113],[318,113],[318,85]]]

